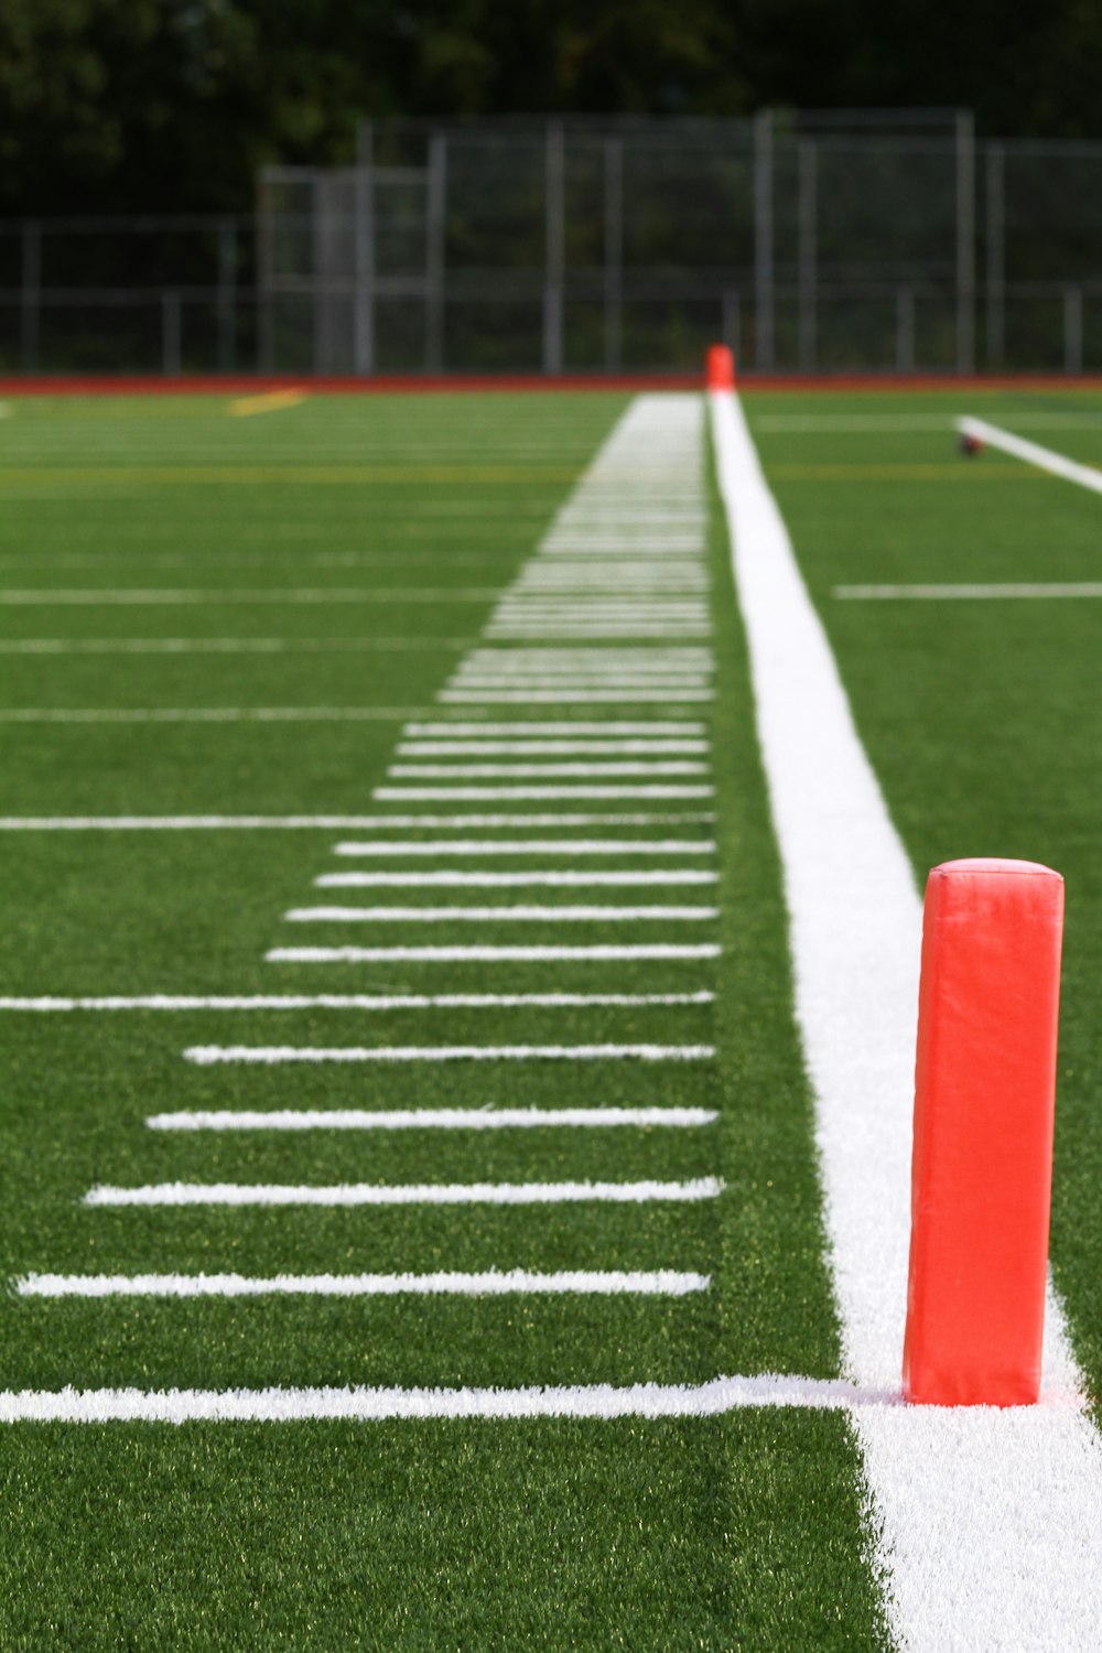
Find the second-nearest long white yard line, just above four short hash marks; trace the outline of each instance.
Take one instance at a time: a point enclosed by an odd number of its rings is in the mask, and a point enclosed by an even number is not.
[[[119,993],[0,998],[0,1010],[565,1010],[582,1005],[710,1005],[715,993]]]

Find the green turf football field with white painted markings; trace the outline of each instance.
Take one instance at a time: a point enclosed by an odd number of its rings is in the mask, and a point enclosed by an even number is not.
[[[1099,463],[1097,390],[7,403],[2,1646],[1092,1645]],[[1067,881],[1052,1349],[922,1418],[973,855]]]

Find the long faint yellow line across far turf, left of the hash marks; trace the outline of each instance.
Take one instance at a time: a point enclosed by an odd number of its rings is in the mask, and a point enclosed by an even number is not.
[[[563,464],[127,464],[0,466],[7,483],[573,483],[577,466]]]

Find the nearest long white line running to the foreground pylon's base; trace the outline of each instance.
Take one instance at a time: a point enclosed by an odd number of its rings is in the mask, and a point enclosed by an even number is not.
[[[532,1389],[23,1389],[0,1392],[0,1423],[383,1423],[408,1418],[714,1418],[743,1407],[899,1408],[829,1379],[717,1377],[707,1384]],[[960,1643],[955,1643],[960,1646]],[[1082,1643],[1089,1646],[1090,1643]],[[953,1646],[953,1643],[947,1643]],[[1054,1650],[1056,1653],[1056,1650]]]

